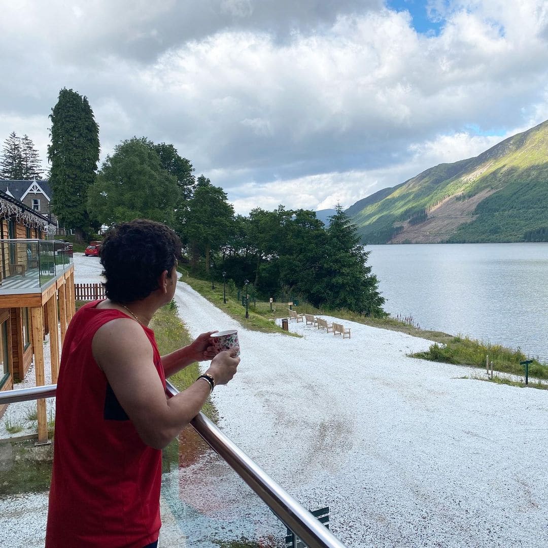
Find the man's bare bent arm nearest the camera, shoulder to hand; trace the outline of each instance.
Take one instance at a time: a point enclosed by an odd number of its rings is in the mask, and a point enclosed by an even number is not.
[[[93,338],[92,351],[142,441],[156,449],[167,446],[198,414],[209,396],[208,381],[198,379],[166,399],[150,341],[131,319],[115,319],[100,327]],[[230,352],[220,352],[207,373],[213,376],[215,384],[226,384],[236,373],[238,363],[239,358]]]

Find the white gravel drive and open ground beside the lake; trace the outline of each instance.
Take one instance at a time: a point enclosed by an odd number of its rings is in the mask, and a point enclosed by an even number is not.
[[[99,281],[97,259],[75,265]],[[548,545],[546,391],[408,358],[430,341],[402,333],[342,321],[342,340],[293,321],[297,339],[244,329],[181,282],[175,300],[193,336],[238,328],[238,374],[213,395],[221,429],[306,507],[329,506],[348,546]],[[165,475],[189,545],[284,534],[235,476],[212,454]]]

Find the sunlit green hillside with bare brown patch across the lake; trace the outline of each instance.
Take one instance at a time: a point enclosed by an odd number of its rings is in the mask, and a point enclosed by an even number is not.
[[[545,240],[548,121],[475,158],[427,169],[347,211],[364,243]]]

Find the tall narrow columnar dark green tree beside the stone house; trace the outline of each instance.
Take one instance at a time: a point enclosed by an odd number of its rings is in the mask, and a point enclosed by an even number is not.
[[[61,226],[75,229],[83,240],[90,229],[87,198],[99,162],[99,126],[88,99],[66,88],[59,92],[49,118],[52,211]]]

